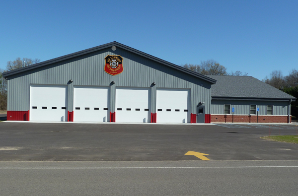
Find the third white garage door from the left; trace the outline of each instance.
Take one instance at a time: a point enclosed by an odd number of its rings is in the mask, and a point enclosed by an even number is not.
[[[149,88],[116,89],[116,122],[150,122]]]

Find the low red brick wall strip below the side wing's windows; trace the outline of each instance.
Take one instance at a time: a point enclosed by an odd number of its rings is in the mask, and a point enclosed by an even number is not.
[[[211,115],[211,123],[231,123],[232,122],[232,115]],[[288,123],[288,116],[258,116],[258,123]],[[290,116],[290,122],[292,117]],[[234,123],[256,123],[257,116],[252,115],[234,115]]]

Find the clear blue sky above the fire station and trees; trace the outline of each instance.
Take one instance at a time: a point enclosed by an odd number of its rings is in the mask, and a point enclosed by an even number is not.
[[[298,69],[297,0],[7,0],[0,68],[117,41],[176,65],[214,59],[263,79]]]

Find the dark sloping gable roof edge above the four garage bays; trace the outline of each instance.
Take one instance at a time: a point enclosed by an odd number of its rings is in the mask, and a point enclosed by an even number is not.
[[[124,50],[130,51],[132,53],[135,53],[137,55],[140,55],[142,57],[145,57],[147,59],[150,59],[152,61],[155,61],[157,63],[163,64],[163,65],[172,67],[174,69],[177,69],[179,71],[182,71],[182,72],[188,73],[190,75],[196,76],[196,77],[198,77],[200,79],[203,79],[203,80],[206,80],[206,81],[208,81],[208,82],[210,82],[212,84],[215,84],[216,83],[216,80],[215,79],[212,79],[212,78],[210,78],[210,77],[208,77],[206,75],[202,75],[200,73],[196,73],[196,72],[191,71],[189,69],[186,69],[186,68],[184,68],[182,66],[178,66],[178,65],[169,63],[167,61],[164,61],[162,59],[153,57],[153,56],[151,56],[151,55],[149,55],[147,53],[143,53],[143,52],[141,52],[139,50],[136,50],[136,49],[131,48],[131,47],[128,47],[126,45],[120,44],[120,43],[118,43],[116,41],[110,42],[110,43],[107,43],[107,44],[103,44],[103,45],[100,45],[100,46],[96,46],[96,47],[93,47],[93,48],[89,48],[89,49],[86,49],[86,50],[82,50],[82,51],[79,51],[79,52],[76,52],[76,53],[72,53],[72,54],[69,54],[69,55],[65,55],[65,56],[62,56],[62,57],[58,57],[58,58],[55,58],[55,59],[51,59],[51,60],[48,60],[48,61],[44,61],[44,62],[40,62],[40,63],[37,63],[37,64],[33,64],[33,65],[29,65],[29,66],[18,68],[18,69],[14,69],[14,70],[11,70],[11,71],[3,72],[2,73],[2,76],[3,77],[8,77],[8,76],[14,75],[16,73],[21,73],[21,72],[28,71],[28,70],[31,70],[31,69],[35,69],[35,68],[38,68],[38,67],[41,67],[41,66],[45,66],[45,65],[50,65],[50,64],[53,64],[53,63],[61,62],[61,61],[67,60],[67,59],[71,59],[71,58],[78,57],[78,56],[81,56],[81,55],[85,55],[85,54],[88,54],[88,53],[96,52],[96,51],[99,51],[99,50],[102,50],[102,49],[106,49],[106,48],[109,48],[109,47],[112,47],[112,46],[116,46],[116,47],[122,48]]]

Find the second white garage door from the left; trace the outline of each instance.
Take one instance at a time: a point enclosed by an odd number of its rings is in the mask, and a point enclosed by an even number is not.
[[[74,121],[110,122],[110,88],[74,86]]]

